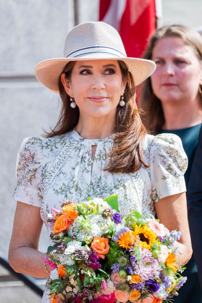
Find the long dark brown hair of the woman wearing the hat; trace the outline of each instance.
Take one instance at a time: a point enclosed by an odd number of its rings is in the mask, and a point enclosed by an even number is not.
[[[116,125],[114,134],[114,145],[110,154],[110,161],[104,170],[110,172],[130,173],[138,171],[141,165],[148,167],[144,161],[141,146],[147,133],[146,128],[141,122],[140,110],[135,103],[135,85],[131,73],[128,71],[123,61],[118,61],[121,68],[122,79],[128,78],[124,91],[125,106],[117,107]],[[63,72],[65,78],[71,82],[71,73],[75,62],[69,62]],[[45,132],[46,138],[63,135],[71,131],[78,123],[79,108],[70,107],[70,96],[65,92],[64,86],[59,79],[58,82],[62,108],[55,128],[50,132]]]

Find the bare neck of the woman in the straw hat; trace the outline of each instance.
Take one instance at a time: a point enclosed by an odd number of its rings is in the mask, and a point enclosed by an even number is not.
[[[79,116],[76,130],[82,138],[101,139],[114,133],[115,117],[94,118],[87,115]]]

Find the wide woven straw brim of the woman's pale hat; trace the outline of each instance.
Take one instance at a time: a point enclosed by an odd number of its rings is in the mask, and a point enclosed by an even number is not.
[[[102,54],[102,58],[94,56],[89,57],[82,56],[82,58],[55,58],[48,59],[38,63],[35,68],[35,76],[39,82],[41,82],[44,86],[51,89],[51,91],[59,94],[58,89],[58,81],[61,76],[61,73],[65,67],[65,65],[70,61],[86,61],[86,60],[121,60],[126,63],[128,66],[128,70],[131,72],[134,80],[135,86],[139,85],[145,79],[147,79],[156,68],[156,65],[151,60],[140,59],[140,58],[128,58],[128,57],[115,57],[109,58],[105,57],[105,54]]]

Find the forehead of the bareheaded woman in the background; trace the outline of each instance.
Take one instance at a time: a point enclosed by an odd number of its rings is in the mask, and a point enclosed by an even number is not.
[[[152,58],[167,56],[196,57],[194,48],[184,43],[181,38],[167,37],[158,40],[152,51]]]

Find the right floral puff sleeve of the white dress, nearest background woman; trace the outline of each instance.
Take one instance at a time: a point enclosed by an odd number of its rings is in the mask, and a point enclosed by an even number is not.
[[[181,139],[174,134],[156,135],[150,148],[152,201],[186,191],[184,173],[188,159]]]

